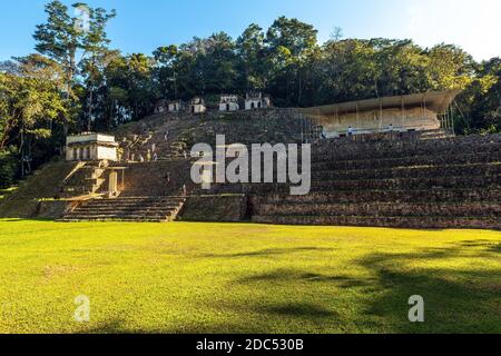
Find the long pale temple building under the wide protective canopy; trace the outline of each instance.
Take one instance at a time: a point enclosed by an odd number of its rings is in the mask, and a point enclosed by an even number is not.
[[[341,102],[301,109],[324,127],[326,138],[452,127],[448,110],[459,90]]]

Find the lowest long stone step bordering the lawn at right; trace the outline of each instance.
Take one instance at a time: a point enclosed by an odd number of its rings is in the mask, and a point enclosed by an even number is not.
[[[257,224],[392,227],[416,229],[501,229],[499,218],[485,217],[373,217],[373,216],[254,216]]]

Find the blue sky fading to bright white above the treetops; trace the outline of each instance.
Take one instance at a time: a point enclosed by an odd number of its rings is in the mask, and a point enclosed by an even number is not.
[[[85,1],[85,0],[82,0]],[[75,1],[63,0],[66,4]],[[475,59],[501,56],[499,0],[88,0],[116,9],[112,47],[150,53],[159,46],[226,31],[237,37],[252,22],[267,28],[278,16],[314,24],[320,41],[334,27],[345,37],[412,38],[419,44],[455,43]],[[33,51],[46,0],[1,0],[0,60]]]

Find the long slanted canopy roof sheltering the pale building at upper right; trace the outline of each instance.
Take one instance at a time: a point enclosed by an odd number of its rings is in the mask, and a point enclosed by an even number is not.
[[[299,111],[308,118],[317,121],[327,121],[342,113],[367,111],[389,108],[425,107],[434,112],[445,113],[449,106],[454,101],[461,90],[430,91],[407,96],[395,96],[369,100],[357,100],[326,105],[321,107],[302,108]]]

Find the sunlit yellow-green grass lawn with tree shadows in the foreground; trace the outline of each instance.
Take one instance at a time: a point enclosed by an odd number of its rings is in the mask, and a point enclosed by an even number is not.
[[[501,333],[499,231],[0,220],[0,333]]]

